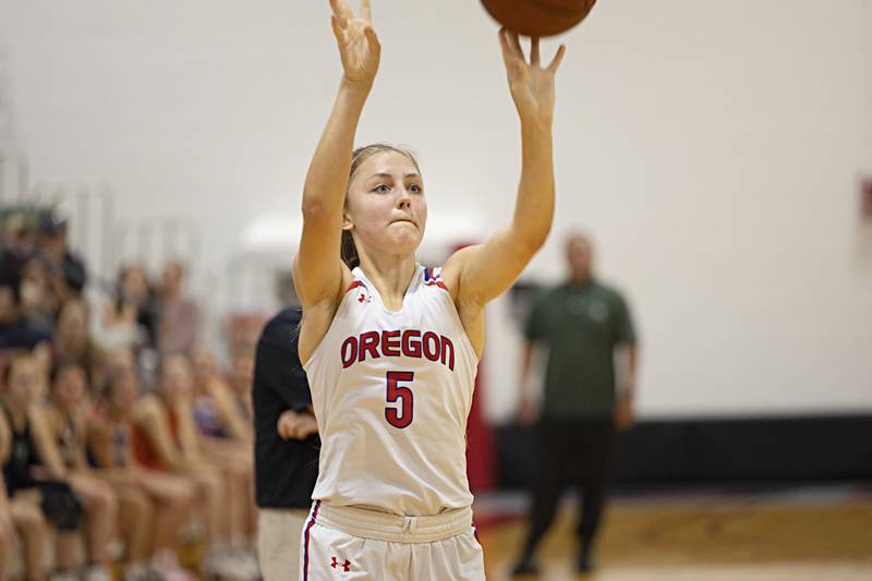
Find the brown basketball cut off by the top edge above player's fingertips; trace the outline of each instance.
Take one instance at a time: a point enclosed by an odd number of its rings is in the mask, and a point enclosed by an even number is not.
[[[554,36],[572,28],[596,0],[482,0],[494,19],[524,36]]]

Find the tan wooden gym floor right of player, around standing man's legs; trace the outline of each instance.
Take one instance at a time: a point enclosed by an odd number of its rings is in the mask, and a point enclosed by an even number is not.
[[[487,579],[509,580],[525,533],[525,497],[480,496],[475,508]],[[540,548],[538,579],[872,580],[869,485],[616,495],[589,576],[573,571],[574,519],[568,497]]]

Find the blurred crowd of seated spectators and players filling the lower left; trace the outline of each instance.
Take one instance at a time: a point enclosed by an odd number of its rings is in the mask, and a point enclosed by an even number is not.
[[[253,351],[218,367],[179,262],[89,280],[51,211],[0,218],[0,581],[256,579]]]

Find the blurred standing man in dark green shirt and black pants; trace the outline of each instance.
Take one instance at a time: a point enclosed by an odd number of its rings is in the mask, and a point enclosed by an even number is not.
[[[533,554],[554,520],[560,494],[578,484],[581,546],[578,569],[591,569],[591,550],[606,498],[615,428],[633,421],[633,395],[639,350],[630,312],[621,295],[602,285],[592,273],[593,249],[581,234],[567,241],[570,278],[543,292],[526,324],[521,367],[522,423],[538,415],[538,455],[542,468],[533,491],[530,533],[514,568],[516,574],[535,574]],[[544,392],[537,413],[530,389],[533,349],[548,348]],[[626,348],[616,389],[615,351]]]

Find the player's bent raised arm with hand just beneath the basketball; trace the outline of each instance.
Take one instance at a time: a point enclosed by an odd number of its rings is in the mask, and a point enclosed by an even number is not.
[[[521,181],[511,223],[486,243],[459,251],[445,265],[443,278],[461,316],[470,307],[484,307],[517,280],[545,243],[554,217],[554,78],[566,49],[560,46],[543,69],[537,38],[531,40],[530,62],[516,33],[502,29],[499,40],[521,120]]]

